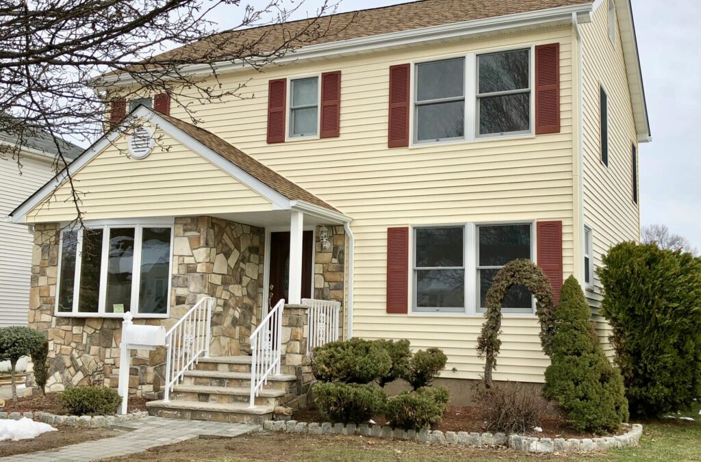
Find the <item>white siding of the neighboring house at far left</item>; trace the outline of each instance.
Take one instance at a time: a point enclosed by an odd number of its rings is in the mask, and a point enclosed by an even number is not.
[[[50,159],[22,156],[0,158],[0,327],[26,325],[33,234],[25,224],[5,221],[22,201],[54,175]]]

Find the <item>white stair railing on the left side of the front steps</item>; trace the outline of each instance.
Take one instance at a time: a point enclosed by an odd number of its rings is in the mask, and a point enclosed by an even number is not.
[[[192,369],[201,356],[209,357],[214,302],[212,297],[201,299],[165,333],[163,401],[168,401],[172,388],[182,381],[186,370]]]

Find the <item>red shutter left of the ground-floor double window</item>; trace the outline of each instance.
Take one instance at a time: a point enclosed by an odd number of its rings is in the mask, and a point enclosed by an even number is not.
[[[387,229],[387,313],[407,313],[409,228]]]

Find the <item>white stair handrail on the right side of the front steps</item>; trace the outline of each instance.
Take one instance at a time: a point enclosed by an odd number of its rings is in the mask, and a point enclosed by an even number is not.
[[[268,377],[275,370],[280,374],[280,353],[283,345],[283,309],[285,300],[280,299],[275,307],[250,336],[251,342],[251,400],[249,407],[255,407],[256,396],[268,383]]]

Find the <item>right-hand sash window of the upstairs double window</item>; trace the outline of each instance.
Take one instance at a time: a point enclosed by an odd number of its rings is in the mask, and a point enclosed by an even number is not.
[[[531,130],[531,50],[477,55],[478,135]]]

